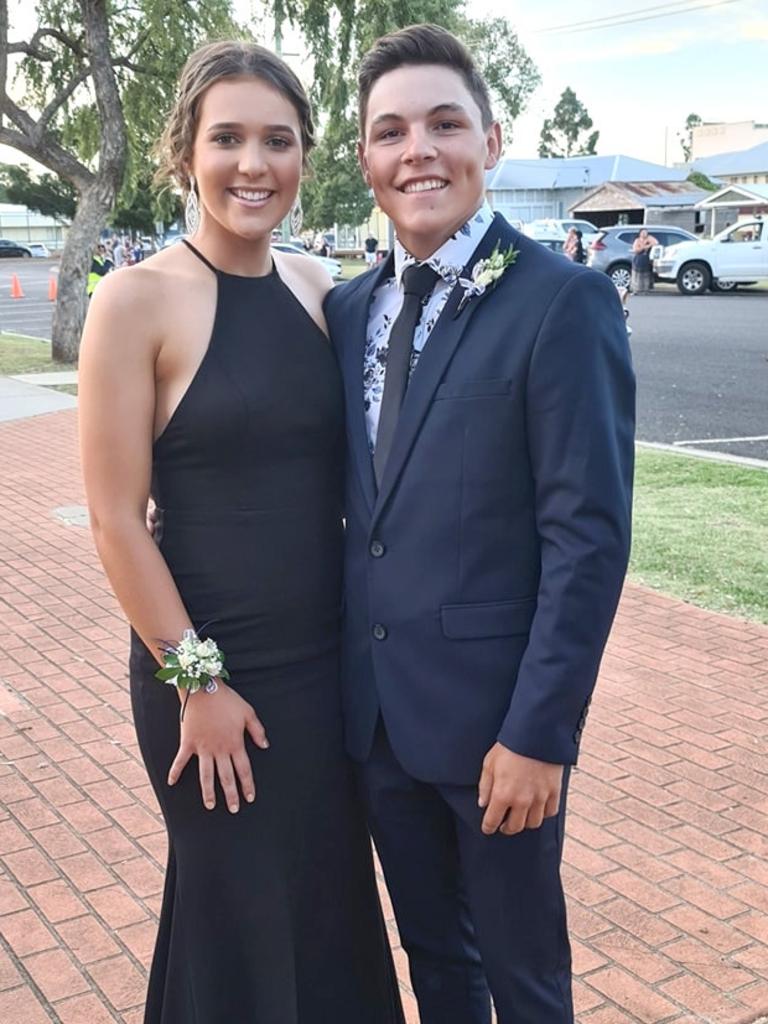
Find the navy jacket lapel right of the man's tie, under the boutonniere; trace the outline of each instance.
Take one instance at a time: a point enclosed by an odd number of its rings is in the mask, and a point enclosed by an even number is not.
[[[463,278],[469,278],[471,268],[480,259],[486,259],[497,243],[511,244],[512,230],[506,220],[499,214],[480,240],[479,245],[462,272]],[[409,384],[406,398],[402,402],[392,442],[392,450],[384,470],[381,489],[376,499],[374,516],[383,509],[392,487],[397,481],[402,468],[416,440],[417,434],[427,414],[437,385],[440,383],[454,352],[469,327],[472,314],[487,294],[470,299],[461,313],[457,315],[459,304],[464,297],[463,289],[457,284],[440,313],[440,317],[432,329],[424,350],[419,356],[419,362]]]

